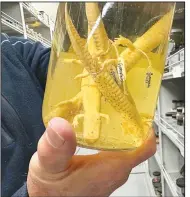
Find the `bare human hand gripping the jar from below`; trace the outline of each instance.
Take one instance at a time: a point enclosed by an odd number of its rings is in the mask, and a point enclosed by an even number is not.
[[[53,118],[29,165],[29,196],[110,196],[132,170],[156,151],[153,131],[134,151],[74,155],[75,133],[62,118]],[[73,156],[74,155],[74,156]]]

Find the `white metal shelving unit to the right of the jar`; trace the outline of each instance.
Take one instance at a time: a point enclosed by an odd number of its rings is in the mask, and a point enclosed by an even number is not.
[[[183,29],[184,4],[177,3],[176,7],[180,7],[181,11],[174,16],[173,28]],[[172,100],[185,100],[184,50],[179,49],[166,60],[154,116],[158,144],[156,154],[148,160],[149,173],[151,176],[154,170],[161,172],[163,197],[182,196],[177,192],[176,180],[182,177],[180,170],[184,165],[184,126],[177,125],[176,120],[168,122],[165,114],[171,111]]]

